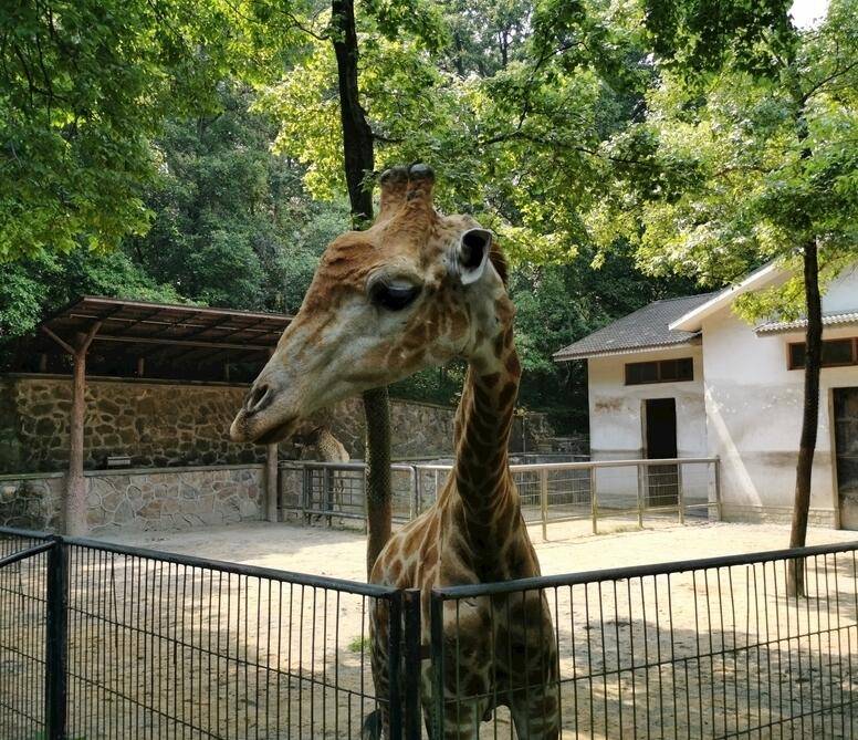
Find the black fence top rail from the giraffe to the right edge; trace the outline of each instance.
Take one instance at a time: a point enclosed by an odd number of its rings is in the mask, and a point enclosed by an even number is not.
[[[709,571],[735,565],[757,565],[776,561],[798,560],[816,555],[831,555],[858,550],[858,541],[837,544],[820,544],[809,548],[792,548],[786,550],[767,550],[749,552],[739,555],[719,555],[697,560],[673,561],[667,563],[648,563],[646,565],[629,565],[610,567],[603,571],[585,571],[583,573],[565,573],[558,575],[541,575],[517,581],[500,581],[496,583],[477,583],[460,586],[442,586],[432,588],[432,593],[446,600],[469,598],[472,596],[489,596],[495,594],[522,593],[542,588],[576,586],[588,583],[605,583],[606,581],[626,581],[646,576],[670,575],[689,571]]]

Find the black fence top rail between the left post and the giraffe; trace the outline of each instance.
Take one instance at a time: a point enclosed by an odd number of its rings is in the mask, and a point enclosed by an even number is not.
[[[103,542],[101,540],[90,540],[86,538],[62,536],[57,539],[65,544],[77,548],[86,548],[88,550],[98,550],[118,555],[130,555],[133,557],[142,557],[144,560],[153,560],[163,563],[172,563],[175,565],[185,565],[187,567],[199,567],[210,571],[218,571],[221,573],[232,573],[234,575],[244,575],[252,579],[265,579],[270,581],[292,583],[299,586],[342,591],[358,596],[389,598],[398,593],[396,588],[380,586],[372,583],[362,583],[360,581],[346,581],[345,579],[332,579],[324,575],[293,573],[291,571],[280,571],[272,567],[263,567],[261,565],[230,563],[222,560],[211,560],[209,557],[199,557],[197,555],[182,555],[175,552],[161,552],[160,550],[149,550],[147,548],[136,548],[113,542]]]

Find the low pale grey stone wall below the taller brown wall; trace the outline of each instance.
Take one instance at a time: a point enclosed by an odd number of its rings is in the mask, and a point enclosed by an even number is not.
[[[260,520],[264,475],[261,465],[87,471],[90,531],[181,530]],[[0,476],[0,524],[60,529],[64,486],[61,473]]]

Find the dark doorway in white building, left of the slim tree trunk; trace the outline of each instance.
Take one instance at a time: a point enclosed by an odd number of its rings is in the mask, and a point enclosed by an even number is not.
[[[648,460],[677,457],[677,399],[648,398],[644,402],[644,455]],[[647,501],[650,507],[674,507],[679,499],[676,465],[647,468]]]

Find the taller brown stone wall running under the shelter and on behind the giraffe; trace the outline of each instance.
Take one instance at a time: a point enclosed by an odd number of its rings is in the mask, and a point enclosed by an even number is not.
[[[84,467],[105,467],[108,456],[128,456],[135,468],[261,463],[265,448],[237,445],[229,426],[247,386],[174,384],[87,378]],[[9,375],[0,378],[0,473],[62,471],[69,461],[71,381]],[[393,456],[447,457],[452,452],[452,408],[393,400]],[[364,457],[364,408],[359,398],[329,413],[334,434],[353,459]],[[527,449],[545,434],[544,418],[530,415]],[[513,451],[520,451],[522,423],[515,419]],[[282,458],[297,457],[290,445]]]

